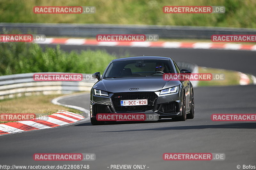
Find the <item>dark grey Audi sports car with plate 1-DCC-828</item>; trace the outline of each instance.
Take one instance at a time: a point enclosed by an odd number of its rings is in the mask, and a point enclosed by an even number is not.
[[[194,118],[194,92],[189,80],[166,81],[164,73],[191,73],[180,70],[170,57],[136,56],[112,60],[103,75],[92,77],[90,97],[92,125],[102,125],[97,114],[144,113],[156,114],[159,119],[178,121]],[[140,101],[129,103],[129,101]]]

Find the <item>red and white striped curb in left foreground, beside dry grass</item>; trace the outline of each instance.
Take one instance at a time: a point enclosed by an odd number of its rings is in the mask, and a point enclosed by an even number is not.
[[[74,123],[84,119],[84,116],[73,112],[59,110],[57,113],[41,116],[28,121],[8,122],[0,124],[0,135],[24,132],[38,129],[48,129]]]

